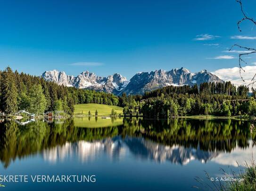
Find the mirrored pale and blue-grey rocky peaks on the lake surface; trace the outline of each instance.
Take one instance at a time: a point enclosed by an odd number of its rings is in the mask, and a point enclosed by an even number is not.
[[[71,144],[66,143],[43,151],[43,158],[50,162],[57,162],[66,158],[78,156],[82,162],[94,160],[101,154],[114,160],[121,160],[127,153],[140,159],[149,159],[157,162],[166,160],[175,164],[185,165],[190,160],[207,162],[218,155],[216,151],[201,151],[198,148],[185,148],[180,145],[161,145],[144,138],[107,138],[102,141],[87,142],[78,141]]]

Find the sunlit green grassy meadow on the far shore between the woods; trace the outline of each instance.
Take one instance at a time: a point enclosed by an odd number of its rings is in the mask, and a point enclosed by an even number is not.
[[[111,110],[115,109],[117,115],[121,114],[123,115],[123,107],[118,106],[108,106],[103,104],[77,104],[74,106],[74,115],[88,115],[88,112],[91,111],[91,115],[95,115],[95,111],[98,111],[98,115],[110,115]]]

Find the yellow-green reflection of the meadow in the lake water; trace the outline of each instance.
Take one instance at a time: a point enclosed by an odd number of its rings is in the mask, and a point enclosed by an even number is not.
[[[74,117],[74,126],[75,127],[84,127],[84,128],[99,128],[99,127],[114,127],[123,124],[123,118],[115,117],[111,119],[102,119],[97,117],[97,120],[94,116],[92,117]]]

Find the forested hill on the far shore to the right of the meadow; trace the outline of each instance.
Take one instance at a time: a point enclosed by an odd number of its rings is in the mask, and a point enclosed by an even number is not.
[[[236,88],[231,82],[166,86],[143,96],[127,98],[124,115],[143,114],[149,118],[186,115],[256,115],[255,91],[248,98],[248,87]],[[250,100],[248,100],[250,99]]]

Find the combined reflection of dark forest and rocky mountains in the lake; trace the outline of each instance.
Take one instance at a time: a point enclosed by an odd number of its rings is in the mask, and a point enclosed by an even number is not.
[[[93,120],[93,119],[91,119]],[[118,118],[120,121],[120,118]],[[112,119],[113,124],[115,119]],[[127,154],[140,160],[170,161],[185,165],[191,160],[206,163],[223,160],[226,153],[248,152],[253,146],[250,123],[238,120],[143,120],[123,119],[121,125],[83,128],[75,120],[47,123],[5,121],[0,123],[0,160],[8,168],[16,158],[41,153],[57,162],[76,157],[81,162],[106,154],[122,160]],[[118,123],[119,124],[119,123]]]

